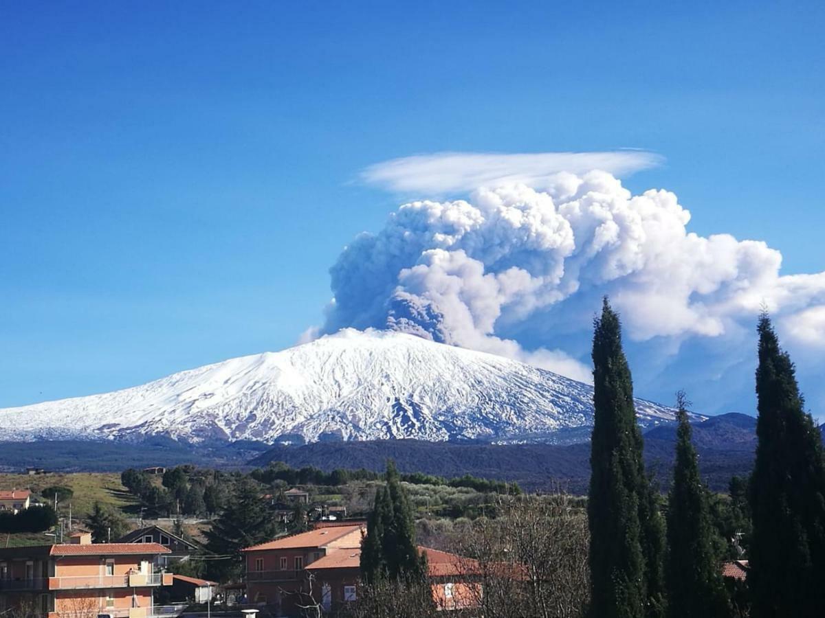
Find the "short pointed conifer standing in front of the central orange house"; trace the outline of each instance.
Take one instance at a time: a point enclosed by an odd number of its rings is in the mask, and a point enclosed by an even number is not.
[[[375,493],[361,544],[361,577],[413,581],[427,575],[427,560],[415,544],[415,520],[395,464],[389,461],[386,485]]]

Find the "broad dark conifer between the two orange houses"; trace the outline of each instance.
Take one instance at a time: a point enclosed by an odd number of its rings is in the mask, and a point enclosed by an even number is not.
[[[261,494],[261,488],[254,481],[239,480],[224,512],[206,531],[206,549],[213,555],[226,557],[209,560],[207,570],[210,578],[219,581],[238,578],[240,551],[275,537],[277,522]]]

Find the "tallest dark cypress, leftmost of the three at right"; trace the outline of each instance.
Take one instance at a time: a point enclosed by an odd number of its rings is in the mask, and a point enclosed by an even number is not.
[[[644,474],[633,382],[619,316],[605,298],[594,321],[590,527],[594,618],[662,616],[663,523]]]

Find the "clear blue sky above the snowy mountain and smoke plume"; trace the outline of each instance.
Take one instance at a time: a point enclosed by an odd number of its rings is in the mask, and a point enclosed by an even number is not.
[[[417,153],[664,157],[700,235],[823,270],[820,3],[0,7],[0,407],[294,344]],[[641,392],[654,396],[658,391]]]

